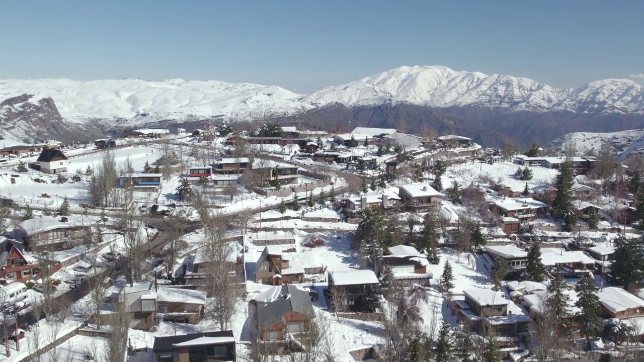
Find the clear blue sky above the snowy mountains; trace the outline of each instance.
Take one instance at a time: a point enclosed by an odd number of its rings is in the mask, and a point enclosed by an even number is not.
[[[644,73],[643,10],[593,0],[7,0],[0,79],[213,79],[304,93],[438,64],[574,87]]]

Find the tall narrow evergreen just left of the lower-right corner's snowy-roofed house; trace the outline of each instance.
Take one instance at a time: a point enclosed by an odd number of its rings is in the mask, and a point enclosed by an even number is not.
[[[590,348],[591,338],[597,336],[597,327],[600,325],[600,298],[591,274],[583,274],[575,289],[578,300],[574,305],[581,309],[576,316],[577,323],[580,334],[586,339],[586,347]]]

